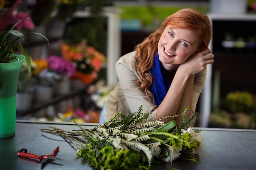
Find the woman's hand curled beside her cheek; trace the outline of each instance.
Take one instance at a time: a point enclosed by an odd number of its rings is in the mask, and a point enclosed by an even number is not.
[[[214,55],[211,52],[211,49],[206,49],[195,53],[182,63],[178,69],[184,69],[183,71],[189,75],[200,73],[206,68],[207,64],[214,62]]]

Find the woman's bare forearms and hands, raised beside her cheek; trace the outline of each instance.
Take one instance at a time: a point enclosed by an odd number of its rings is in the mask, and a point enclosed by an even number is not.
[[[193,84],[195,74],[206,68],[207,64],[213,63],[214,56],[210,49],[201,51],[191,56],[186,62],[181,64],[173,78],[172,84],[157,108],[157,119],[164,116],[181,115],[184,108],[192,106]],[[191,109],[187,112],[187,117],[191,114]],[[166,120],[170,121],[171,119]],[[181,124],[180,117],[176,117],[178,125]]]

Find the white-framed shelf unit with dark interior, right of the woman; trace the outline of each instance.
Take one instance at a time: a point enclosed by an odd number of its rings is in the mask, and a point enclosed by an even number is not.
[[[256,30],[256,15],[248,14],[207,14],[211,22],[213,36],[209,48],[215,56],[214,63],[207,66],[207,77],[200,95],[200,126],[207,127],[211,114],[211,97],[213,76],[216,70],[220,71],[220,95],[223,97],[232,91],[249,91],[256,94],[256,52],[226,51],[221,42],[225,32],[234,35],[234,40],[243,37],[245,41],[253,36]]]

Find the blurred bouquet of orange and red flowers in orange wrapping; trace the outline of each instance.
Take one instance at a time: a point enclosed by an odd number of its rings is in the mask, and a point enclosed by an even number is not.
[[[106,62],[106,57],[92,46],[88,46],[85,40],[76,45],[61,42],[61,51],[65,59],[72,61],[76,67],[73,78],[81,79],[84,84],[94,82]]]

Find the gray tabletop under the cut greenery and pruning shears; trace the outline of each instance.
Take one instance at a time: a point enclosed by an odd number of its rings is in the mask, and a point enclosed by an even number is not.
[[[92,128],[97,124],[84,124]],[[76,158],[76,148],[61,136],[40,132],[41,128],[56,126],[65,130],[79,129],[74,124],[16,122],[16,135],[0,138],[0,170],[40,170],[41,164],[33,159],[18,158],[17,151],[27,148],[28,152],[49,154],[60,147],[57,157],[63,161],[47,163],[44,170],[96,170],[85,159]],[[196,156],[199,163],[173,161],[153,165],[154,170],[256,170],[256,130],[241,129],[202,129],[202,148]]]

